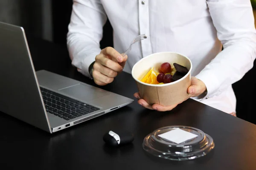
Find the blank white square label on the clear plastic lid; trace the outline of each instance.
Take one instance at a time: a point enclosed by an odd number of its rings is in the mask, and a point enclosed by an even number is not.
[[[162,133],[158,136],[160,136],[161,138],[167,139],[171,142],[175,142],[176,144],[180,144],[189,139],[193,139],[193,138],[197,137],[198,135],[195,135],[194,133],[187,132],[185,130],[175,129],[175,130],[171,130],[166,133]]]

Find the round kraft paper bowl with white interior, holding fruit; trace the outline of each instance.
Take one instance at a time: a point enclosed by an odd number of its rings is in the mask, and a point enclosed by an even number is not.
[[[172,67],[173,63],[185,66],[189,72],[181,79],[162,85],[152,85],[141,82],[140,80],[154,67],[154,71],[158,72],[158,68],[163,62],[169,62]],[[140,59],[132,68],[132,77],[136,80],[140,97],[149,105],[155,103],[167,106],[183,102],[189,97],[187,88],[191,85],[191,60],[176,52],[160,52],[154,53],[143,59]]]

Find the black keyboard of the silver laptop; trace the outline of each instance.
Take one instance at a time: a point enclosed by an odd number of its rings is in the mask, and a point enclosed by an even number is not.
[[[92,105],[55,93],[54,91],[41,87],[40,89],[46,111],[62,119],[70,120],[99,110],[99,108]]]

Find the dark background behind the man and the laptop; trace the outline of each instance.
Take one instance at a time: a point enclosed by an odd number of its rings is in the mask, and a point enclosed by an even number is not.
[[[26,34],[51,41],[66,48],[67,26],[72,0],[0,0],[0,21],[23,26]],[[113,47],[112,27],[104,26],[101,48]],[[242,57],[241,57],[242,58]],[[256,65],[256,61],[254,62]],[[237,116],[256,124],[256,66],[233,84],[237,98]]]

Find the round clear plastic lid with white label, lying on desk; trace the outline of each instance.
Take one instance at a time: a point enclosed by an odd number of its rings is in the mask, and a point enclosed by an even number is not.
[[[143,149],[160,158],[188,160],[205,156],[214,148],[211,136],[188,126],[161,127],[148,134]]]

